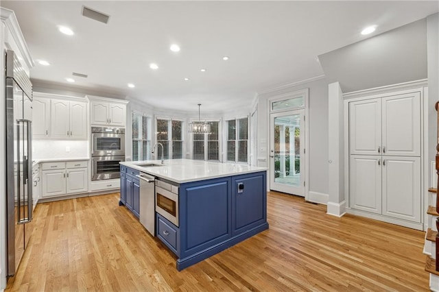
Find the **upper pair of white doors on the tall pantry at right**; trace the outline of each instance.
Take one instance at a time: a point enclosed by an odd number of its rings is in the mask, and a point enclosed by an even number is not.
[[[420,156],[420,93],[349,103],[351,154]]]

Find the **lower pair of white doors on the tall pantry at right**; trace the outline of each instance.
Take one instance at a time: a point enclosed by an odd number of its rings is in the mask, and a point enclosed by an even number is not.
[[[351,155],[351,208],[420,222],[420,158]]]

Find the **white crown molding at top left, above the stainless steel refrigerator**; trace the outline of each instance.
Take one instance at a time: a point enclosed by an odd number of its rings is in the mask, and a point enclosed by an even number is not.
[[[29,48],[26,45],[25,38],[23,36],[23,33],[21,32],[19,21],[17,21],[14,11],[0,7],[0,19],[1,21],[3,21],[3,23],[5,23],[6,27],[8,27],[12,38],[14,38],[16,44],[19,47],[21,56],[23,56],[23,59],[25,60],[27,66],[29,67],[29,69],[31,69],[33,66],[35,66],[35,63],[32,59],[32,56],[30,55]],[[8,38],[6,38],[6,40],[7,39]]]

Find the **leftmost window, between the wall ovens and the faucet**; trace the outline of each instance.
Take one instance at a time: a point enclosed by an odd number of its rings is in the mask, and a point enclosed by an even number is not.
[[[131,113],[132,160],[151,159],[151,118],[137,112]]]

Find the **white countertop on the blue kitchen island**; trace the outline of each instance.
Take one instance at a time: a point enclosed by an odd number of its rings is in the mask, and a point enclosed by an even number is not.
[[[228,162],[209,162],[191,159],[165,160],[163,166],[160,167],[141,167],[139,165],[146,163],[161,165],[161,160],[127,161],[119,163],[158,178],[177,182],[178,184],[267,170],[265,167],[251,167],[250,165]]]

